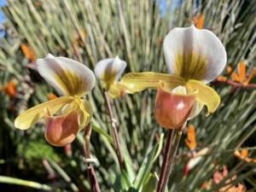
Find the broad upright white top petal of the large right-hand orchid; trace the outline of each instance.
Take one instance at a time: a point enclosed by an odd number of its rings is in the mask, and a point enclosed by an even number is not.
[[[208,83],[224,70],[227,56],[217,36],[206,29],[174,28],[164,40],[166,65],[183,79]]]

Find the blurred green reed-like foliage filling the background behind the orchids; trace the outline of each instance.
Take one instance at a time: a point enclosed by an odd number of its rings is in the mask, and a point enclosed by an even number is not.
[[[176,26],[190,26],[195,15],[193,1],[184,1],[172,12],[160,14],[158,1],[137,0],[9,0],[3,8],[8,18],[8,35],[0,44],[0,83],[15,79],[18,95],[10,98],[0,93],[0,176],[1,183],[18,183],[26,187],[3,185],[20,191],[45,189],[52,191],[88,191],[90,185],[83,160],[81,133],[73,143],[72,156],[63,148],[49,146],[44,140],[44,122],[28,131],[15,130],[14,119],[24,109],[47,100],[54,90],[45,84],[20,49],[29,44],[37,58],[48,53],[81,61],[91,69],[96,61],[119,57],[127,61],[128,72],[154,71],[167,73],[162,41]],[[167,2],[167,6],[171,2]],[[255,1],[200,1],[197,11],[205,15],[204,27],[218,35],[228,54],[228,63],[236,70],[239,61],[247,62],[247,71],[256,66]],[[74,44],[75,42],[75,44]],[[30,67],[27,64],[30,63]],[[255,79],[254,79],[255,82]],[[212,178],[216,165],[228,165],[229,177],[237,175],[236,183],[256,189],[255,164],[237,160],[236,148],[250,147],[255,157],[256,90],[213,82],[222,98],[216,113],[206,118],[205,112],[189,121],[195,125],[199,147],[211,148],[189,173],[183,175],[189,150],[184,143],[178,149],[170,178],[170,191],[203,191],[201,185]],[[92,154],[96,158],[96,174],[102,191],[153,191],[154,172],[160,172],[159,156],[166,130],[154,120],[154,90],[113,101],[119,136],[128,165],[120,172],[113,150],[108,113],[102,86],[97,82],[88,98],[95,114],[92,123]],[[184,137],[183,137],[184,138]],[[182,141],[183,141],[182,138]],[[56,179],[47,178],[43,163],[55,172]],[[24,180],[15,180],[18,177]],[[10,179],[10,180],[9,180]],[[28,184],[26,180],[37,183]],[[20,182],[20,183],[19,183]],[[41,184],[42,183],[42,184]],[[46,185],[43,185],[46,184]],[[224,182],[205,191],[217,191]],[[28,187],[34,189],[29,189]]]

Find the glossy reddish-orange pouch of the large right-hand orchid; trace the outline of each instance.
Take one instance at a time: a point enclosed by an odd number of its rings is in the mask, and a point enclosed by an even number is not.
[[[154,104],[154,117],[164,128],[177,129],[188,119],[197,92],[183,95],[166,90],[160,82]]]

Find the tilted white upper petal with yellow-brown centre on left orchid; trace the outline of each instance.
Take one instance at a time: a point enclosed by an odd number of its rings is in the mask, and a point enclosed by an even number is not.
[[[38,73],[61,95],[84,96],[95,84],[94,73],[78,61],[49,54],[37,64]]]

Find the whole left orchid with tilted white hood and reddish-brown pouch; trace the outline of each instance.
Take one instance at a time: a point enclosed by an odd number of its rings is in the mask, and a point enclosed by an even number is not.
[[[92,90],[95,76],[88,67],[66,57],[48,55],[38,59],[38,73],[61,95],[38,104],[15,119],[15,127],[26,130],[45,118],[46,140],[55,146],[72,143],[92,117],[90,103],[83,96]],[[55,115],[55,116],[54,116]]]

